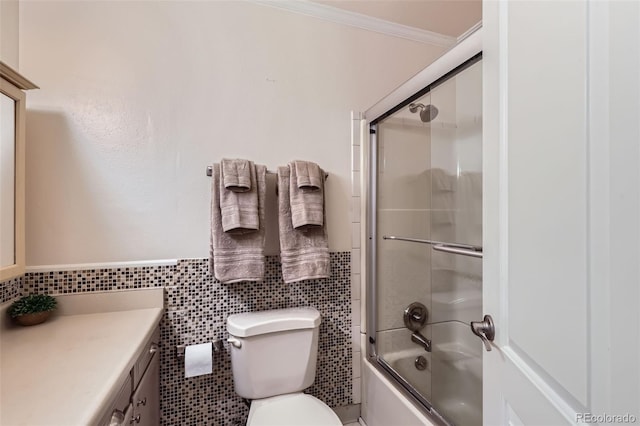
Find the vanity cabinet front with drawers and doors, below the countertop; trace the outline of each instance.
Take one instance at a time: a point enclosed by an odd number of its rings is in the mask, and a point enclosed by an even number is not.
[[[101,426],[158,426],[160,424],[160,329],[144,345]]]

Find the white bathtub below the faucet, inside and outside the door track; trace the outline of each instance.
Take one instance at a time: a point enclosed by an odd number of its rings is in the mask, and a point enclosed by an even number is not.
[[[406,329],[378,333],[378,349],[383,364],[393,369],[413,387],[419,396],[412,397],[399,382],[388,374],[379,361],[365,361],[365,387],[363,389],[363,419],[369,426],[388,424],[433,424],[428,420],[427,409],[420,404],[420,397],[437,413],[456,425],[482,424],[482,343],[460,322],[445,322],[428,326],[424,334],[433,342],[432,352],[411,342]],[[426,368],[416,368],[417,357],[424,357]],[[369,389],[369,386],[373,387]],[[386,390],[383,390],[386,388]],[[384,397],[381,397],[384,395]],[[364,400],[367,400],[364,402]],[[371,404],[371,401],[375,401]],[[391,419],[400,408],[413,407],[420,413],[403,421]],[[413,410],[409,410],[413,412]],[[384,421],[381,421],[384,419]],[[386,422],[386,423],[385,423]]]

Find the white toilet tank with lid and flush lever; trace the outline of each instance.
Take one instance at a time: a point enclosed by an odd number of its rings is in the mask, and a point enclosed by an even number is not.
[[[320,313],[277,309],[227,319],[236,393],[247,399],[302,391],[313,384]]]

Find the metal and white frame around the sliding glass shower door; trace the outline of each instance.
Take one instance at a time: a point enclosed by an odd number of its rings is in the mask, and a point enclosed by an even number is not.
[[[408,80],[394,92],[386,96],[364,114],[364,129],[369,138],[363,134],[362,145],[366,146],[366,359],[374,368],[390,376],[400,384],[401,390],[415,399],[424,411],[439,423],[449,425],[432,404],[427,401],[407,380],[396,373],[384,359],[378,356],[377,337],[377,193],[378,193],[378,141],[377,123],[406,107],[414,100],[426,95],[434,87],[448,80],[469,66],[482,59],[482,28],[480,25],[470,34],[431,65]]]

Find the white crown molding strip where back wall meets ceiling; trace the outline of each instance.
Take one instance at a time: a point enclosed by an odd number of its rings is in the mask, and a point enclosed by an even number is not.
[[[451,47],[456,43],[456,37],[421,30],[407,25],[396,24],[384,19],[350,12],[337,7],[314,3],[307,0],[250,0],[252,3],[275,7],[289,12],[312,16],[336,24],[348,25],[363,30],[374,31],[393,37],[400,37],[419,43],[436,46]]]

